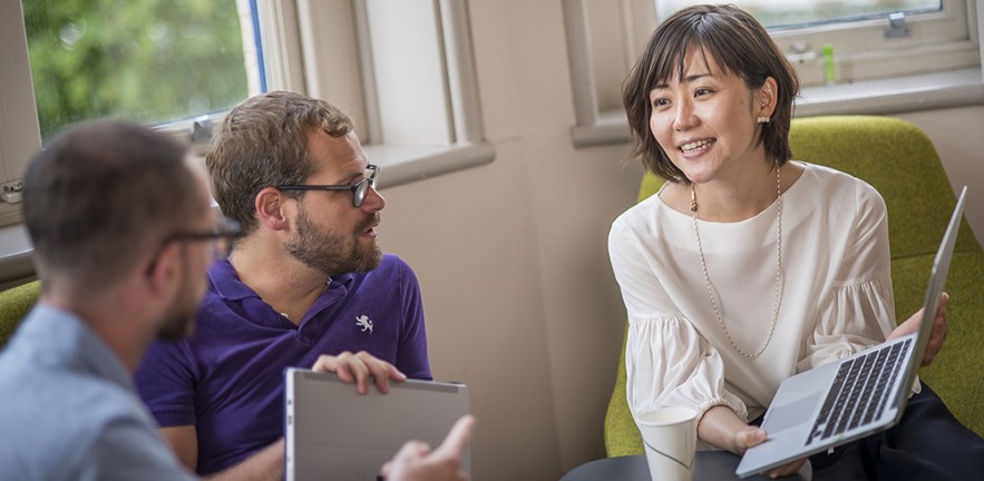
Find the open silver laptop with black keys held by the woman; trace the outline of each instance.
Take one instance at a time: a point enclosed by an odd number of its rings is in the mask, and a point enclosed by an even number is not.
[[[933,332],[966,196],[964,187],[933,259],[919,331],[783,381],[762,421],[769,438],[746,451],[738,475],[822,452],[902,420]]]

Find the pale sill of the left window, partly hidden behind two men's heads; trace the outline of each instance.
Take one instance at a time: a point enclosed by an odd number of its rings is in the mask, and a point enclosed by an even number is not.
[[[366,146],[369,160],[380,166],[380,189],[441,174],[488,164],[495,158],[490,144],[451,147]],[[17,206],[0,204],[0,215]],[[0,227],[0,288],[35,275],[33,248],[21,222]]]

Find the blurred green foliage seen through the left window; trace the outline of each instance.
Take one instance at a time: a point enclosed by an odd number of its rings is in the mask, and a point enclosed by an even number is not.
[[[158,125],[249,95],[236,0],[25,0],[41,136],[118,117]]]

